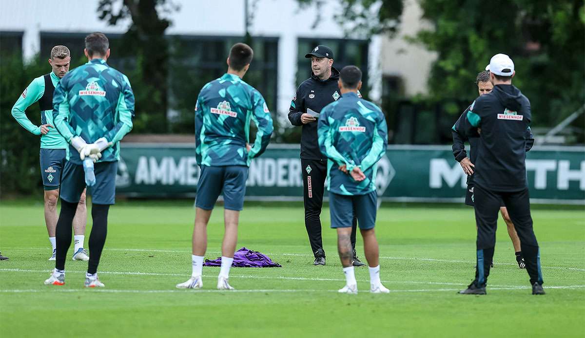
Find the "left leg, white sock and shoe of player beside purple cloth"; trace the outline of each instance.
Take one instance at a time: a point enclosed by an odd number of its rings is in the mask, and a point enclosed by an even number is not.
[[[188,281],[177,284],[180,289],[200,289],[203,287],[201,274],[203,259],[207,251],[207,223],[211,217],[211,210],[195,208],[195,226],[192,237],[192,273]]]

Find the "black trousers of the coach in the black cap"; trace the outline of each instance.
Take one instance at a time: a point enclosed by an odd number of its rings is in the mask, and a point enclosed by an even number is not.
[[[303,201],[305,202],[305,227],[309,235],[309,243],[315,257],[325,256],[321,237],[321,209],[323,193],[327,178],[327,161],[305,160],[301,158]],[[357,218],[353,215],[352,247],[356,249]],[[321,253],[319,253],[321,250]]]

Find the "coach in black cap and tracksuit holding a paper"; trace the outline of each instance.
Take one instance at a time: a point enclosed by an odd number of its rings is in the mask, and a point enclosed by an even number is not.
[[[305,55],[311,58],[311,77],[302,82],[292,98],[288,119],[293,126],[302,126],[301,134],[301,171],[304,188],[305,227],[309,234],[311,249],[315,255],[315,265],[325,265],[325,251],[321,237],[321,208],[325,179],[327,178],[327,158],[319,150],[317,140],[317,119],[307,113],[307,108],[321,112],[326,105],[341,96],[338,87],[339,71],[333,65],[333,51],[327,46],[316,46]],[[356,218],[352,226],[353,265],[366,265],[356,256]]]

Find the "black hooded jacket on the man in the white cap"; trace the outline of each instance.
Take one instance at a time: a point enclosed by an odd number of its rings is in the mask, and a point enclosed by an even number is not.
[[[526,150],[532,146],[530,101],[513,85],[495,85],[466,115],[467,137],[479,136],[474,183],[492,191],[521,191]],[[481,133],[478,134],[478,128]]]

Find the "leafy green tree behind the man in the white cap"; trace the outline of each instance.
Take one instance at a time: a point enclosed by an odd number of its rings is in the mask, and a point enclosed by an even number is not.
[[[429,89],[434,99],[470,98],[490,57],[512,57],[514,85],[532,103],[533,123],[552,126],[583,102],[585,12],[578,0],[422,0],[433,29],[417,41],[438,52]],[[577,123],[583,123],[583,120]]]

